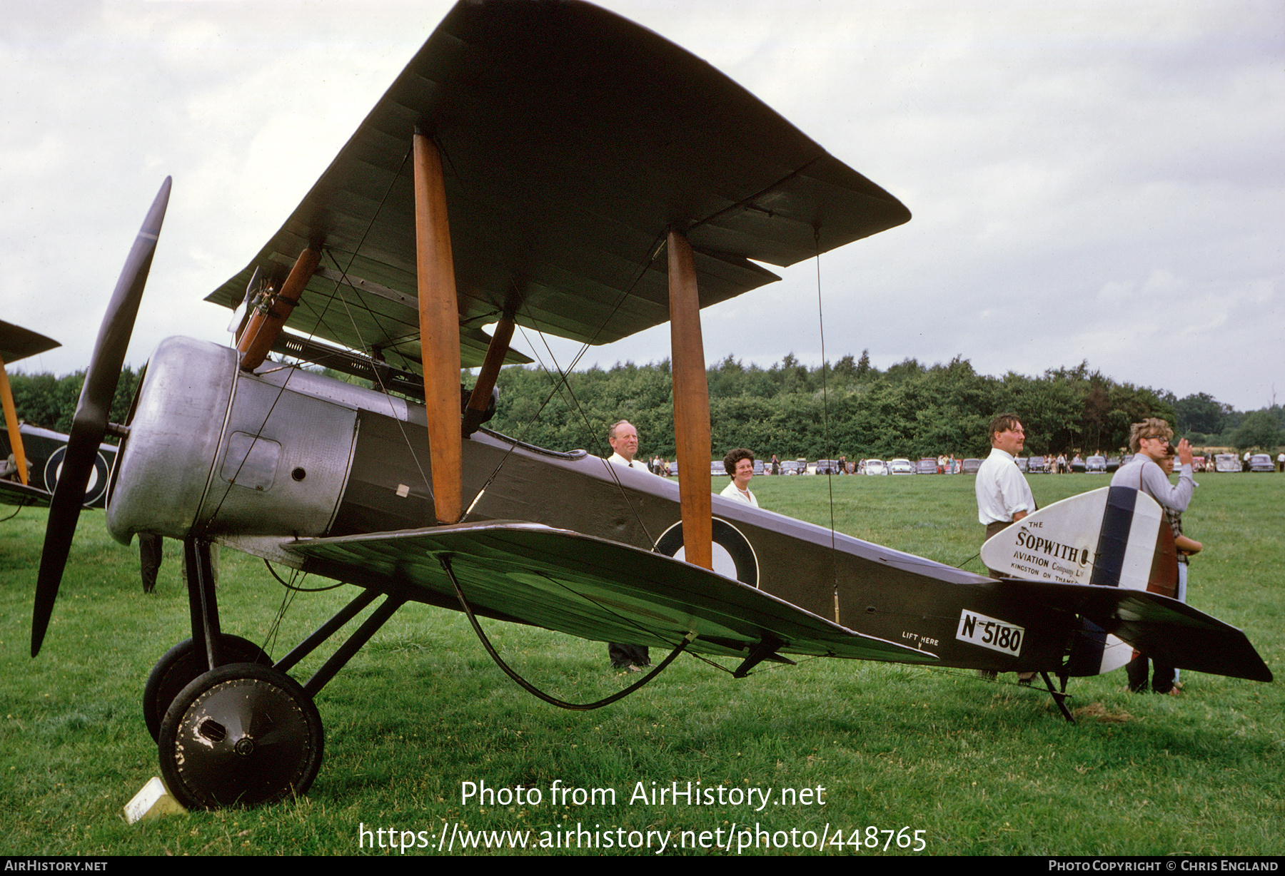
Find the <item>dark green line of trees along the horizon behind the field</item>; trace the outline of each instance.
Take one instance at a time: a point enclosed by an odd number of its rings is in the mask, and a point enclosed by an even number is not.
[[[139,378],[131,367],[122,372],[113,421],[125,421]],[[468,372],[464,379],[472,381]],[[1127,444],[1130,424],[1148,416],[1168,420],[1199,447],[1275,451],[1285,443],[1279,405],[1240,412],[1208,393],[1177,398],[1119,383],[1087,362],[997,378],[978,374],[962,357],[932,366],[907,358],[879,370],[869,352],[825,367],[808,367],[793,355],[766,369],[727,356],[708,369],[708,379],[716,457],[732,447],[811,460],[980,457],[989,448],[986,426],[1000,411],[1022,417],[1031,453],[1114,453]],[[84,380],[84,371],[10,375],[18,416],[68,432]],[[642,455],[673,459],[668,361],[595,366],[565,381],[536,366],[513,366],[500,372],[499,387],[488,424],[499,432],[553,450],[605,455],[607,426],[623,419],[637,428]]]

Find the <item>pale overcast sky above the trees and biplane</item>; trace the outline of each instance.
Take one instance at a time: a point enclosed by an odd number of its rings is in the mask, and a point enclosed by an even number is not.
[[[1180,397],[1285,402],[1285,3],[603,5],[914,213],[822,257],[831,361],[869,348],[879,367],[961,355],[1036,375],[1087,360]],[[19,367],[87,364],[166,175],[128,361],[170,334],[225,342],[229,311],[200,299],[276,231],[448,8],[4,0],[0,319],[64,344]],[[812,262],[703,313],[709,361],[820,361]],[[666,356],[660,329],[582,366]]]

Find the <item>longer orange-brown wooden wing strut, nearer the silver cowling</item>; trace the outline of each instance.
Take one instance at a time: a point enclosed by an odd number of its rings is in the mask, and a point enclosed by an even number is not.
[[[415,270],[419,292],[419,346],[428,407],[428,451],[433,509],[438,523],[463,516],[460,438],[460,310],[455,295],[455,261],[446,216],[442,157],[416,131]]]

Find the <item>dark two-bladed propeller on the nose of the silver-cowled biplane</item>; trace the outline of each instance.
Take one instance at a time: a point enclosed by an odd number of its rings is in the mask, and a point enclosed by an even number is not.
[[[157,236],[164,221],[164,209],[170,203],[171,179],[161,184],[161,191],[152,202],[152,209],[139,229],[125,270],[116,281],[116,292],[107,306],[103,325],[98,330],[94,356],[85,375],[76,416],[72,419],[72,433],[67,441],[67,453],[63,456],[63,470],[49,502],[49,523],[45,527],[45,547],[40,555],[40,577],[36,579],[36,608],[31,620],[31,656],[40,654],[40,645],[49,628],[49,617],[58,599],[58,584],[63,579],[67,555],[71,552],[72,536],[80,520],[81,505],[85,501],[85,488],[94,470],[94,457],[98,446],[107,433],[107,417],[116,396],[116,384],[125,365],[125,353],[134,333],[134,319],[139,312],[143,286],[152,268],[152,256],[155,253]]]

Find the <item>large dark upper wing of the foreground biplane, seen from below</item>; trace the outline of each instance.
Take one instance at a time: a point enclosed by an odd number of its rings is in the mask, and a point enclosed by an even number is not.
[[[704,307],[777,279],[749,259],[793,265],[910,218],[637,24],[574,0],[461,1],[289,221],[208,299],[235,306],[256,267],[284,279],[319,243],[323,268],[289,325],[418,369],[416,126],[443,155],[463,329],[495,321],[509,295],[519,324],[590,343],[664,322],[654,262],[671,227],[695,250]],[[464,365],[483,344],[463,338]]]

